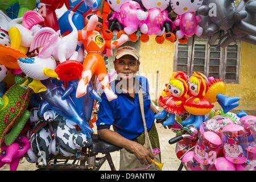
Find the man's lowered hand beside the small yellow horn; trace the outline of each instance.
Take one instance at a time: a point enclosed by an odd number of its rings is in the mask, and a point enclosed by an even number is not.
[[[152,155],[146,147],[142,146],[142,144],[139,144],[137,142],[132,143],[131,151],[134,153],[135,156],[137,156],[141,164],[151,164],[151,159],[154,159],[154,155]]]

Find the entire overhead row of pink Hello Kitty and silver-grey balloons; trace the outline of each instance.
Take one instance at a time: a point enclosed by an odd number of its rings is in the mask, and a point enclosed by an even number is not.
[[[147,42],[150,35],[156,35],[156,42],[164,39],[170,42],[187,39],[196,35],[209,39],[213,45],[224,31],[220,46],[226,47],[231,42],[242,40],[255,44],[256,3],[254,0],[108,0],[112,13],[108,16],[109,29],[129,35],[135,42],[140,36]],[[213,6],[214,5],[214,6]],[[139,34],[138,34],[139,32]]]

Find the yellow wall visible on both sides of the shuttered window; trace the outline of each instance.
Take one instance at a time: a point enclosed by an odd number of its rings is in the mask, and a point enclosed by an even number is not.
[[[139,74],[146,76],[150,82],[151,99],[158,98],[164,85],[172,76],[175,44],[164,42],[156,44],[154,37],[148,43],[141,43],[141,69]],[[228,96],[241,97],[237,109],[256,109],[256,46],[241,42],[240,82],[227,84]],[[156,71],[159,71],[158,96],[156,97]],[[217,105],[216,105],[217,106]]]

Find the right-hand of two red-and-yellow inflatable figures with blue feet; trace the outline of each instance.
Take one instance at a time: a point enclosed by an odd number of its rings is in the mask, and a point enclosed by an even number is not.
[[[191,96],[184,103],[185,110],[191,113],[191,117],[183,121],[183,125],[193,125],[199,129],[201,123],[205,121],[205,115],[212,110],[214,102],[221,105],[224,113],[237,107],[240,100],[238,97],[225,96],[226,86],[220,79],[208,78],[202,73],[193,73],[189,78],[188,94]]]

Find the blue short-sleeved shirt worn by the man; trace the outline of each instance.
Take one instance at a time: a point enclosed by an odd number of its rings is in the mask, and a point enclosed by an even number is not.
[[[109,102],[105,93],[102,94],[102,102],[100,103],[96,122],[97,129],[109,129],[111,125],[114,125],[120,135],[133,140],[144,132],[139,105],[139,88],[142,88],[143,92],[144,114],[148,131],[150,131],[155,120],[154,113],[150,110],[148,81],[145,77],[135,77],[135,98],[131,97],[129,93],[121,93],[119,90],[115,90],[115,85],[117,85],[116,80],[111,82],[111,87],[117,94],[117,99]]]

